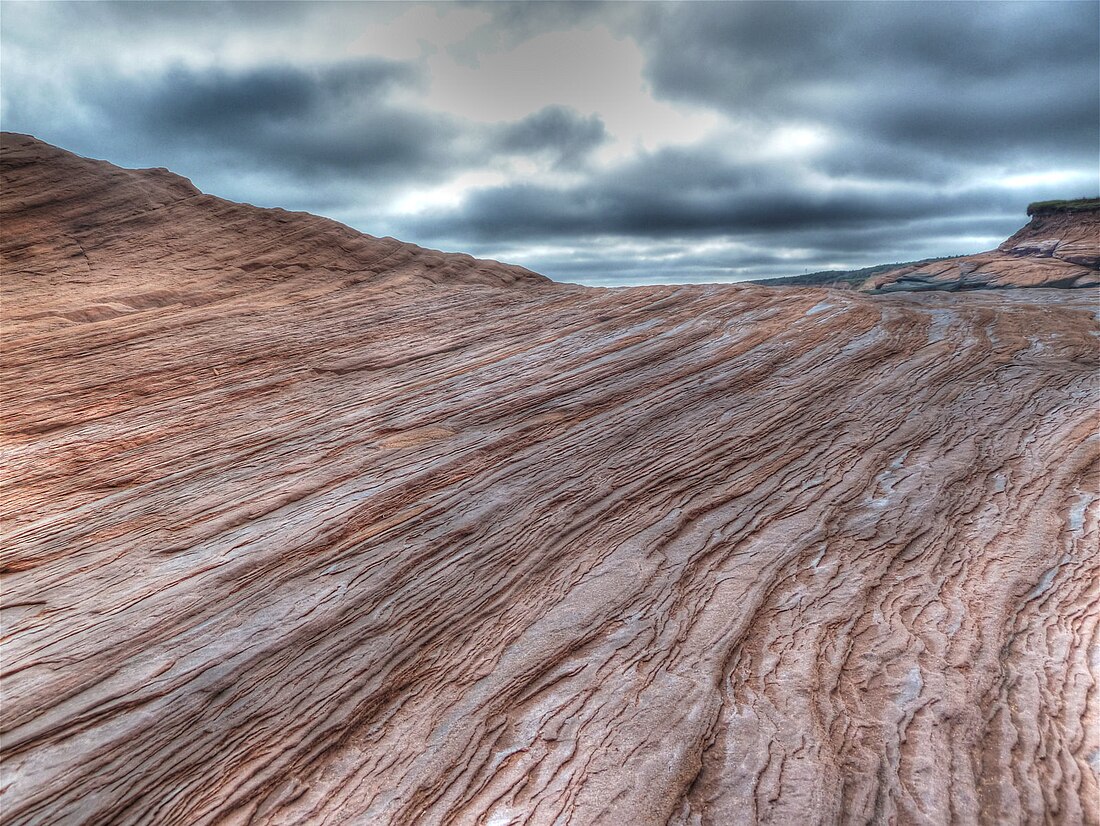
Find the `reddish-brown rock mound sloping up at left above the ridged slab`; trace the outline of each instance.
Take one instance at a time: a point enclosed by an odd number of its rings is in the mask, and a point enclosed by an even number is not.
[[[522,267],[372,238],[305,212],[233,203],[167,169],[121,169],[29,135],[3,133],[0,153],[4,311],[21,328],[195,307],[273,282],[305,293],[380,275],[394,283],[550,283]],[[89,290],[89,278],[100,286]]]

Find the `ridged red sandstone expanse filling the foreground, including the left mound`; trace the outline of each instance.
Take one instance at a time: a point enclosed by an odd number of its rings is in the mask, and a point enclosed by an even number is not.
[[[6,145],[6,824],[1097,822],[1094,291],[551,285]]]

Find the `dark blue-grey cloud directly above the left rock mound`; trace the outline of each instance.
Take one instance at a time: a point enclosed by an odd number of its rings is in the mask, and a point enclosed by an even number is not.
[[[242,71],[175,67],[152,78],[95,78],[81,90],[102,124],[125,125],[148,147],[215,153],[270,173],[375,181],[443,169],[457,129],[393,104],[419,82],[405,64],[365,59],[324,68]]]

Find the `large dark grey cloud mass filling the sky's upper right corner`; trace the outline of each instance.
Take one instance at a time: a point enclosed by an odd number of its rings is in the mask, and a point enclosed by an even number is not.
[[[647,8],[658,95],[943,154],[1097,152],[1100,4]]]

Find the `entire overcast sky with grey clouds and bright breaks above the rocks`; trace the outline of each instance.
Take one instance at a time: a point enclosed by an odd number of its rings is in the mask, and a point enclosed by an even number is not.
[[[1100,3],[3,2],[0,125],[588,284],[998,244],[1100,190]]]

